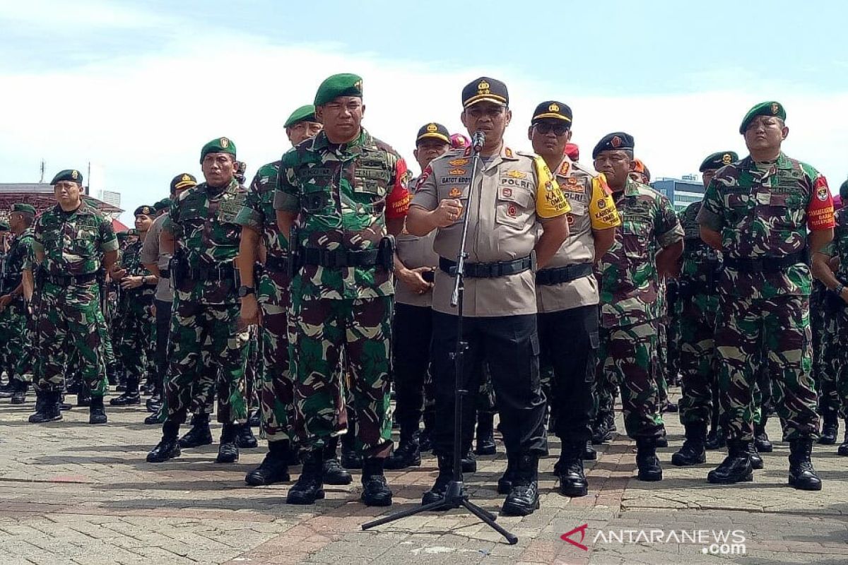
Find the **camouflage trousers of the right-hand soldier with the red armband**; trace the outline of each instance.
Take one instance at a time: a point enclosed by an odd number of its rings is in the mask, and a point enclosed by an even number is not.
[[[753,392],[762,370],[767,371],[762,382],[773,382],[769,388],[774,406],[787,424],[787,439],[817,436],[808,301],[808,296],[749,299],[719,294],[719,400],[730,438],[753,437],[757,407]]]

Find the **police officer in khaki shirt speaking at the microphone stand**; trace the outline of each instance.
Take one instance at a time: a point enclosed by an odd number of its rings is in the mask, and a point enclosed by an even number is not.
[[[516,459],[512,488],[503,512],[526,515],[538,507],[538,457],[546,449],[544,394],[538,379],[538,333],[533,270],[544,266],[568,236],[568,202],[542,158],[505,146],[510,124],[509,94],[499,80],[481,77],[462,90],[461,119],[469,133],[485,133],[482,163],[469,188],[471,148],[448,152],[421,174],[406,220],[415,235],[437,230],[439,255],[433,289],[432,378],[436,398],[439,474],[422,499],[444,499],[452,474],[456,310],[450,306],[455,267],[467,219],[466,280],[462,341],[468,343],[466,390],[477,390],[479,363],[488,363],[498,397],[506,451]],[[472,206],[465,208],[470,190]],[[466,215],[467,214],[467,215]],[[541,233],[538,224],[541,223]],[[471,382],[469,382],[471,381]],[[471,447],[474,409],[464,404],[461,451]]]

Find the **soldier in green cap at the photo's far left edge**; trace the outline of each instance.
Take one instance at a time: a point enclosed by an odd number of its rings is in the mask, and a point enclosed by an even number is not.
[[[12,404],[23,404],[29,383],[25,373],[18,372],[18,363],[28,348],[26,320],[29,313],[24,301],[24,263],[32,251],[32,224],[36,209],[29,204],[14,204],[9,215],[9,227],[14,234],[3,269],[3,294],[0,296],[0,335],[8,355],[6,371],[12,384]]]

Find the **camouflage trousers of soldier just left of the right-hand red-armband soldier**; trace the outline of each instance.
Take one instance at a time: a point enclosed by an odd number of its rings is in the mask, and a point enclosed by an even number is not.
[[[716,386],[713,335],[716,330],[718,296],[697,292],[678,296],[680,373],[680,423],[709,423],[712,390]]]

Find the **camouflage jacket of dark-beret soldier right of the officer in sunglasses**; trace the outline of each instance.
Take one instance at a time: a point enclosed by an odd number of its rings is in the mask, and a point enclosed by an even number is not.
[[[610,251],[595,267],[605,328],[644,324],[662,315],[654,256],[683,239],[671,202],[650,186],[628,179],[613,198],[622,224]]]

